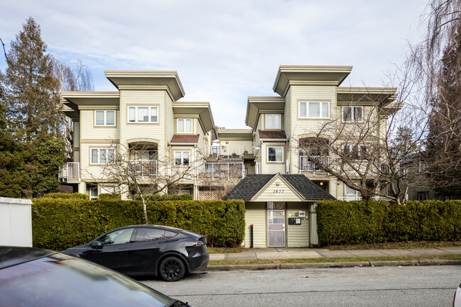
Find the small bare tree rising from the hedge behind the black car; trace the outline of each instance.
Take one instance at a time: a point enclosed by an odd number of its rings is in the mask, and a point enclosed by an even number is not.
[[[190,184],[196,179],[196,170],[203,158],[160,157],[145,143],[121,145],[113,143],[104,153],[104,164],[99,174],[90,173],[96,182],[106,182],[115,187],[116,194],[128,194],[143,202],[144,221],[148,224],[147,202],[152,196],[177,189],[180,184]],[[167,152],[167,151],[165,151]]]

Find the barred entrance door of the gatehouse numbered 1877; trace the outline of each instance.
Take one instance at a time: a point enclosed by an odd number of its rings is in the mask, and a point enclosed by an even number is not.
[[[267,205],[267,246],[285,247],[285,210],[279,210],[278,203]]]

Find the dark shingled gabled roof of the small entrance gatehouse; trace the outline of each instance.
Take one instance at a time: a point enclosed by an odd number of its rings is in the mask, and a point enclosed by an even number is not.
[[[223,200],[243,199],[251,201],[274,177],[282,177],[292,189],[297,191],[306,201],[318,201],[321,199],[335,199],[320,186],[311,182],[302,174],[250,174],[242,179]]]

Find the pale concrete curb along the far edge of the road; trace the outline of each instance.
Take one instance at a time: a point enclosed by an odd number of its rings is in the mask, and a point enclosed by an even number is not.
[[[318,262],[282,264],[221,264],[211,265],[204,271],[256,271],[265,269],[317,269],[327,267],[408,267],[428,265],[461,265],[461,260],[405,260],[405,261],[362,261],[362,262]]]

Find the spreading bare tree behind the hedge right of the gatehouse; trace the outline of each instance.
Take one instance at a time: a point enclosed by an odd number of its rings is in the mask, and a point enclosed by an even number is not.
[[[400,96],[394,88],[343,89],[340,113],[294,139],[301,172],[332,175],[360,191],[362,199],[381,196],[404,203],[418,177],[402,165],[421,147],[428,121],[412,105],[403,108],[414,86],[409,75],[404,77]]]

